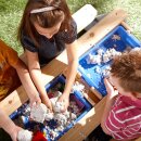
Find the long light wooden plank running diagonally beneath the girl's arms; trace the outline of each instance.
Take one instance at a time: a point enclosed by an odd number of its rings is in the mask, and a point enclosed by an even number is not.
[[[100,23],[98,23],[94,27],[92,27],[89,31],[87,31],[78,39],[78,55],[80,56],[88,49],[90,49],[92,44],[97,43],[100,39],[107,35],[112,29],[114,29],[118,24],[120,24],[126,16],[127,13],[124,10],[115,10],[107,16],[105,16],[102,21],[100,21]],[[42,81],[44,84],[51,81],[55,76],[61,74],[63,69],[66,68],[66,64],[67,57],[66,52],[64,51],[56,59],[54,59],[52,62],[50,62],[42,68]],[[9,102],[12,101],[12,103],[10,102],[11,104],[9,104],[7,100],[9,100]],[[0,102],[0,107],[3,108],[5,114],[10,115],[14,112],[15,108],[18,108],[20,105],[22,105],[22,103],[24,103],[26,100],[27,95],[25,94],[23,87],[20,87],[7,99]]]

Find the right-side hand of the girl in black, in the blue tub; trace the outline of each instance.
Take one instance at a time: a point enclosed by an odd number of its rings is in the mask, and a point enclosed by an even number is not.
[[[62,94],[59,100],[59,102],[63,102],[64,103],[64,111],[65,112],[69,105],[69,97],[68,95],[65,95],[65,94]]]

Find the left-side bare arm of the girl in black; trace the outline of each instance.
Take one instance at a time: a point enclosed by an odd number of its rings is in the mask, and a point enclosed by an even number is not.
[[[28,68],[31,79],[40,93],[41,101],[52,111],[51,102],[47,95],[44,84],[42,82],[42,75],[39,65],[38,54],[26,50]]]

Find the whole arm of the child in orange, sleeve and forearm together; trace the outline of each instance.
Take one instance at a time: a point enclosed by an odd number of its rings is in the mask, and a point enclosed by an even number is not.
[[[0,47],[1,53],[3,54],[4,59],[9,62],[11,66],[16,69],[21,81],[30,99],[31,104],[34,102],[40,103],[40,98],[29,76],[28,69],[26,65],[18,59],[17,52],[7,46],[2,40],[0,40]]]

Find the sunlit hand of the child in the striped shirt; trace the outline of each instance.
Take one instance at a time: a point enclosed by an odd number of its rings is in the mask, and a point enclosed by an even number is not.
[[[105,88],[107,91],[108,97],[114,98],[118,94],[118,91],[114,89],[114,87],[111,85],[111,82],[104,78]]]

